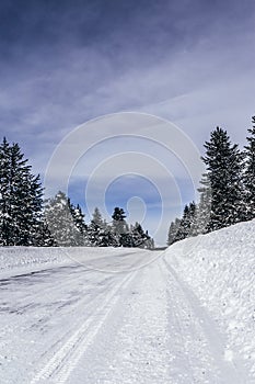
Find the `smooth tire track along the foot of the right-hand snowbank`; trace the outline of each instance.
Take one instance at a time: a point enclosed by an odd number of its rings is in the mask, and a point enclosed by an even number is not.
[[[201,306],[196,295],[183,281],[181,281],[175,270],[165,260],[165,257],[163,258],[163,261],[171,276],[175,281],[177,289],[183,296],[183,300],[189,306],[192,313],[194,314],[195,318],[197,318],[198,324],[204,331],[204,335],[210,348],[210,353],[217,364],[217,368],[219,369],[221,382],[231,384],[245,383],[246,381],[243,377],[242,368],[235,366],[232,361],[224,360],[224,342],[220,332],[216,328],[215,321],[210,318],[207,310]]]

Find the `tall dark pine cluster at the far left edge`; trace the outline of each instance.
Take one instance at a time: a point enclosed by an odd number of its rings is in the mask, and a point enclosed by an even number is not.
[[[31,246],[42,221],[43,189],[18,144],[0,145],[0,244]]]

